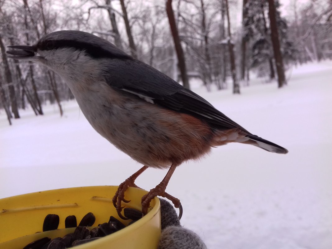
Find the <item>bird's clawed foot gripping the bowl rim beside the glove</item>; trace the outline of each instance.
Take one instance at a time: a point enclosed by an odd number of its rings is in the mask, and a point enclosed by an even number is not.
[[[170,194],[166,193],[165,189],[166,189],[166,186],[164,186],[164,184],[159,184],[154,189],[151,189],[149,191],[149,193],[144,195],[142,197],[142,212],[143,212],[144,215],[147,214],[147,209],[150,206],[151,200],[153,198],[155,198],[156,196],[161,196],[161,197],[165,197],[168,200],[170,200],[174,204],[174,207],[179,208],[179,210],[180,210],[179,219],[180,219],[181,216],[182,216],[182,212],[183,212],[181,202],[180,202],[179,199],[177,199],[177,198],[171,196]]]

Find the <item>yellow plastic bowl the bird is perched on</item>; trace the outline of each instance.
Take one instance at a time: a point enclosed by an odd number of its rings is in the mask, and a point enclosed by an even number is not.
[[[75,228],[65,228],[64,220],[75,215],[77,223],[88,212],[96,216],[94,226],[108,222],[111,215],[118,218],[112,197],[118,186],[95,186],[57,189],[0,199],[0,248],[22,249],[25,245],[43,238],[62,237]],[[147,192],[128,188],[126,207],[141,210],[141,198]],[[42,231],[47,214],[57,214],[60,223],[57,230]],[[127,224],[128,220],[121,220]],[[39,233],[36,233],[39,232]],[[160,202],[156,197],[150,203],[148,213],[133,224],[103,238],[76,246],[77,249],[156,249],[161,232]]]

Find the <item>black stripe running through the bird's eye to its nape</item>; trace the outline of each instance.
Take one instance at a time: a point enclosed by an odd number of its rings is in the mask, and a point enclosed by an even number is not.
[[[110,45],[110,49],[104,49],[100,46],[96,46],[89,42],[84,41],[73,41],[73,40],[47,40],[42,41],[37,44],[37,48],[40,50],[52,50],[58,48],[73,48],[75,50],[85,51],[93,58],[124,58],[124,59],[132,59],[131,56],[125,54],[121,50],[112,48]],[[113,51],[114,50],[114,51]]]

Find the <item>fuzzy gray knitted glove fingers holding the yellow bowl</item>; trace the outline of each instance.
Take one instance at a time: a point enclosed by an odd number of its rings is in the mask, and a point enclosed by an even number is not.
[[[161,236],[158,249],[207,249],[201,238],[180,225],[173,206],[160,199]]]

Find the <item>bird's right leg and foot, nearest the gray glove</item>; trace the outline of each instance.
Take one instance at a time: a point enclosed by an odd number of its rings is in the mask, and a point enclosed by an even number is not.
[[[171,176],[173,175],[176,167],[177,167],[176,164],[172,164],[171,167],[169,168],[166,176],[164,177],[164,179],[154,189],[151,189],[149,191],[149,193],[147,193],[146,195],[144,195],[142,197],[142,212],[144,214],[147,213],[147,209],[149,207],[151,200],[153,198],[155,198],[156,196],[162,196],[162,197],[165,197],[168,200],[172,201],[172,203],[174,204],[174,207],[178,208],[181,206],[179,199],[177,199],[165,192],[167,184],[168,184],[169,180],[171,179]],[[180,208],[180,209],[182,209],[182,208]]]

